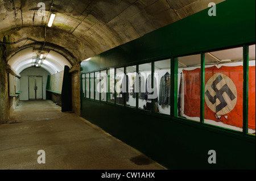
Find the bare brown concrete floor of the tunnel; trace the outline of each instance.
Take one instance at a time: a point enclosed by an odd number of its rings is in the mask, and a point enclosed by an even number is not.
[[[38,151],[46,164],[38,163]],[[0,125],[0,169],[164,170],[129,145],[55,103],[19,102]]]

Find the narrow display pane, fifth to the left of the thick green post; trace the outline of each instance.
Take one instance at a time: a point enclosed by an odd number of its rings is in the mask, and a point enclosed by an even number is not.
[[[108,70],[109,86],[108,86],[108,102],[115,102],[115,69]]]

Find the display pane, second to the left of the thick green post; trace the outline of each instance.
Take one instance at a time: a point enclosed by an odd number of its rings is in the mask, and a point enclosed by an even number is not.
[[[136,77],[135,92],[138,92],[139,109],[152,111],[152,74],[151,63],[139,65]]]

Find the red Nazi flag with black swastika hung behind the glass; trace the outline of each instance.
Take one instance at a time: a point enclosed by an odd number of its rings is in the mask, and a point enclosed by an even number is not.
[[[200,69],[183,70],[184,116],[200,117]],[[205,69],[205,119],[243,127],[243,67]],[[255,66],[249,68],[249,128],[255,129]]]

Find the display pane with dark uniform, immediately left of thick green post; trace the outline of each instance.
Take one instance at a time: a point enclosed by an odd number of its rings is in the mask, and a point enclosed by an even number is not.
[[[156,85],[158,91],[158,102],[155,103],[159,113],[171,114],[171,60],[155,62]]]

